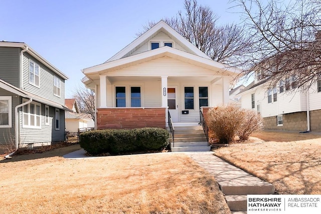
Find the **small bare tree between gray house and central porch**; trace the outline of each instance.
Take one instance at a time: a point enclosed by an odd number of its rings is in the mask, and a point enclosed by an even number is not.
[[[77,101],[79,113],[85,113],[95,120],[95,93],[91,89],[78,87],[73,97]]]

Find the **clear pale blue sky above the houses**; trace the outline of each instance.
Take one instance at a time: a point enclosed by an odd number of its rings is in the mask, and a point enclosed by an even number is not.
[[[198,0],[238,23],[228,0]],[[81,86],[81,69],[105,62],[136,38],[148,21],[184,11],[183,0],[0,0],[0,41],[25,42],[69,76],[66,98]],[[235,11],[235,10],[234,10]]]

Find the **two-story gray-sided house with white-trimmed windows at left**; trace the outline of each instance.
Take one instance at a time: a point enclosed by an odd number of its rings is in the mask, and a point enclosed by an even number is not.
[[[67,79],[27,44],[0,42],[0,144],[64,141]]]

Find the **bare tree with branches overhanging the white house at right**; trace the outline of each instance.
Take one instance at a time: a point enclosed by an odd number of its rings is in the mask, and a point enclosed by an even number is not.
[[[243,58],[246,74],[260,71],[271,85],[309,88],[321,76],[321,1],[233,0],[241,9],[251,51]],[[285,86],[286,87],[286,86]]]

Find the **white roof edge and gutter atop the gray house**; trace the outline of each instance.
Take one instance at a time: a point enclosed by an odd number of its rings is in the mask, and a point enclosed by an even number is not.
[[[22,42],[4,42],[4,41],[2,41],[2,42],[0,42],[0,47],[22,48],[24,50],[27,50],[27,53],[29,53],[31,56],[33,56],[34,58],[39,60],[41,63],[43,63],[45,66],[47,66],[53,72],[55,72],[57,75],[62,77],[64,80],[68,80],[68,76],[67,75],[65,75],[63,72],[61,72],[55,66],[53,66],[50,62],[48,62],[45,58],[43,58],[40,54],[38,54],[34,49],[32,49],[26,43],[22,43]]]

